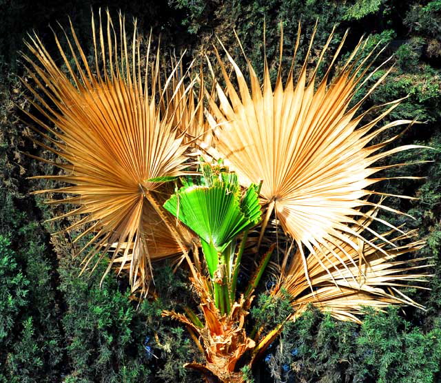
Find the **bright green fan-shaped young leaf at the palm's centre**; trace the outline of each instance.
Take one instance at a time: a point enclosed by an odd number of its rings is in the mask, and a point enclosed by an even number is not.
[[[241,196],[235,173],[217,173],[210,165],[203,165],[201,183],[185,183],[164,204],[165,209],[201,238],[212,278],[218,268],[219,254],[225,253],[240,233],[260,221],[257,191],[258,186],[252,184]]]

